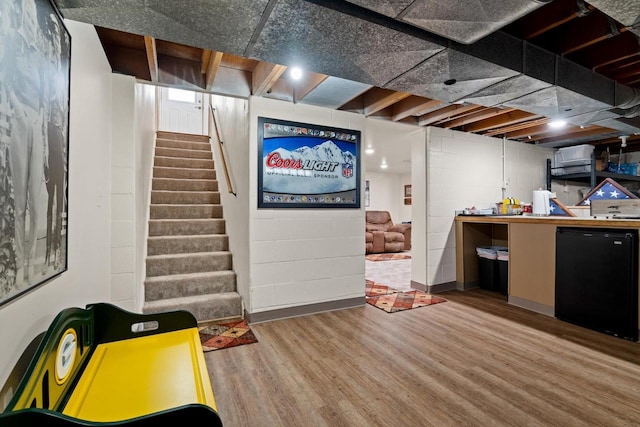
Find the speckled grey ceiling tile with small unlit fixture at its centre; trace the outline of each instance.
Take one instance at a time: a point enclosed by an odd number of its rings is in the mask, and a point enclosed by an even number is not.
[[[516,71],[447,49],[393,80],[386,88],[456,102],[518,75]],[[456,83],[446,85],[445,81]]]

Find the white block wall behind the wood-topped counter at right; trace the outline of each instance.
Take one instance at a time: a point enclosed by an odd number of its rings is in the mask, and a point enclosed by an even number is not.
[[[504,196],[530,201],[535,189],[544,188],[546,159],[554,149],[440,128],[429,128],[428,135],[427,253],[413,248],[412,258],[427,263],[426,284],[434,285],[456,279],[455,210],[494,206],[503,198],[503,183]]]

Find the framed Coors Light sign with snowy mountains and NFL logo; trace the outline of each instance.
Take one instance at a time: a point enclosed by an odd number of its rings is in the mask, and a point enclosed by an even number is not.
[[[360,208],[360,131],[258,118],[258,208]]]

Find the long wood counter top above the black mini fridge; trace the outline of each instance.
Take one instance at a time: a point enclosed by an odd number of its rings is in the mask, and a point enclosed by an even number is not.
[[[525,215],[458,215],[456,222],[488,224],[547,224],[584,227],[624,227],[640,228],[640,219],[610,219],[564,216],[525,216]]]

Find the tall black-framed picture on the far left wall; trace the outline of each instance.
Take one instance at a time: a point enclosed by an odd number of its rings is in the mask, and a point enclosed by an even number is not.
[[[0,305],[67,270],[71,35],[50,0],[0,2]]]

